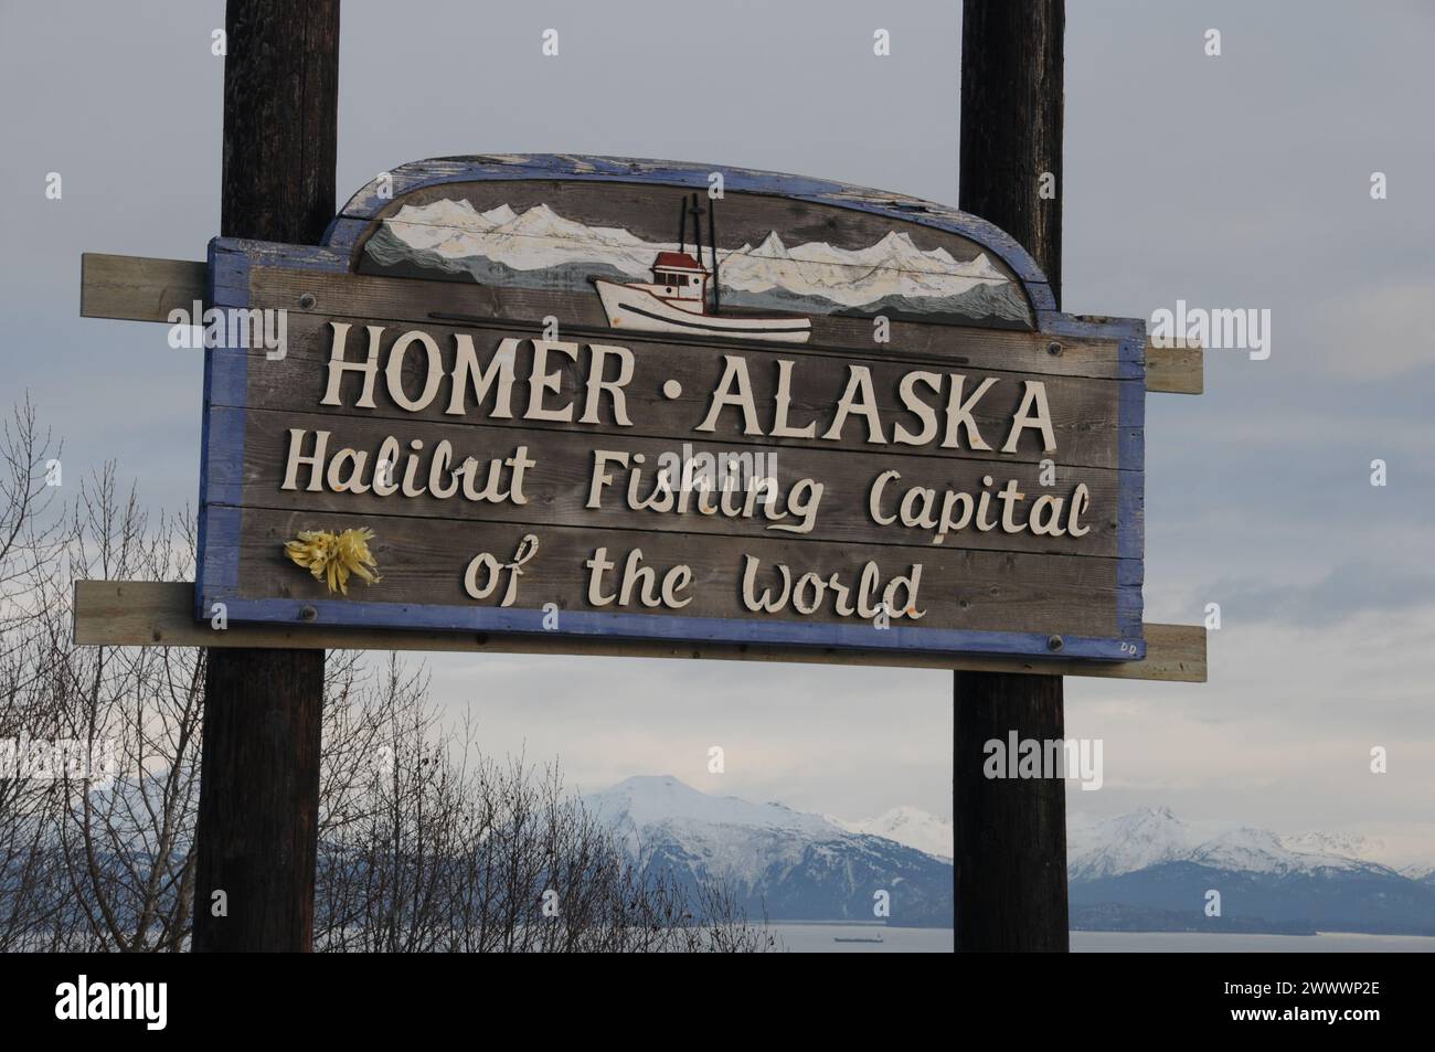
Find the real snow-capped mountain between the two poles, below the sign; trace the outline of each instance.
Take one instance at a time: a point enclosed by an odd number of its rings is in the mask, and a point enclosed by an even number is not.
[[[696,887],[722,883],[749,916],[771,920],[953,921],[951,863],[893,840],[851,832],[781,804],[713,797],[676,778],[639,776],[584,798],[643,870]]]

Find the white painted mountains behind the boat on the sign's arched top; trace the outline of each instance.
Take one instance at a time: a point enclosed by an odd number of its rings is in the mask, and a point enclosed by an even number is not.
[[[481,212],[465,199],[439,198],[403,205],[369,238],[364,254],[380,273],[588,291],[590,277],[647,281],[657,254],[679,248],[623,227],[588,227],[545,204]],[[719,248],[718,263],[725,306],[1029,320],[1022,293],[986,253],[959,261],[946,248],[921,250],[898,231],[851,250],[821,241],[789,247],[771,231],[756,245]]]

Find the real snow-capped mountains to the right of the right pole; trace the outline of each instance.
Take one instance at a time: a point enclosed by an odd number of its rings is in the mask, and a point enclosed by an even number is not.
[[[1378,841],[1182,822],[1170,808],[1068,822],[1073,927],[1435,934],[1428,867],[1375,861]],[[1221,894],[1221,917],[1204,913]]]

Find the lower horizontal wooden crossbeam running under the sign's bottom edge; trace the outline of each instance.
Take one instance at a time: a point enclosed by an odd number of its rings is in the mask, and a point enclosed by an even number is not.
[[[762,647],[736,643],[677,644],[610,637],[557,637],[541,633],[435,633],[344,629],[321,624],[230,624],[217,630],[194,617],[189,581],[76,581],[75,642],[85,646],[276,647],[324,650],[449,650],[499,654],[581,654],[610,657],[705,657],[798,664],[877,664],[908,669],[1025,672],[1049,676],[1106,676],[1178,683],[1205,682],[1205,629],[1147,624],[1147,656],[1139,662],[1048,660],[1027,657],[933,656],[835,647]]]

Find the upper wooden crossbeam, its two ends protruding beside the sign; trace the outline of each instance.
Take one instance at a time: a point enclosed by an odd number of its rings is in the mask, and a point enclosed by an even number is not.
[[[145,255],[80,255],[80,317],[122,321],[168,321],[175,307],[189,310],[204,300],[207,264]],[[1147,390],[1200,395],[1204,389],[1201,347],[1147,344]]]

